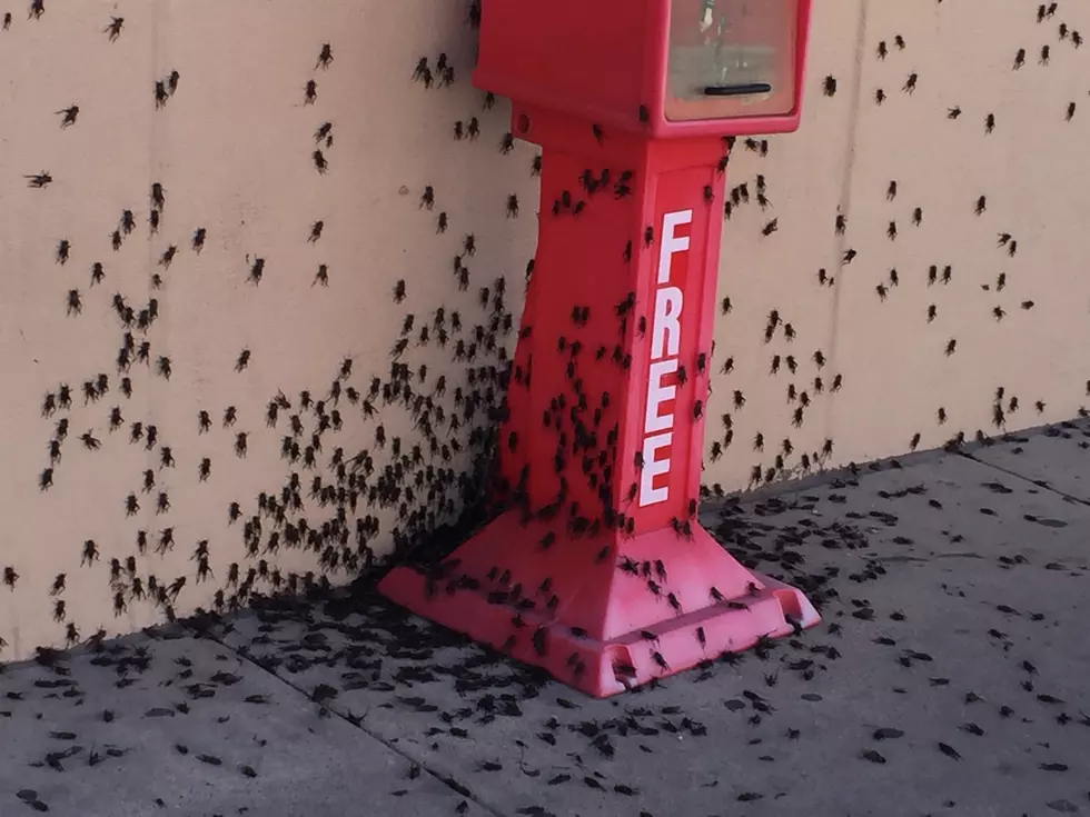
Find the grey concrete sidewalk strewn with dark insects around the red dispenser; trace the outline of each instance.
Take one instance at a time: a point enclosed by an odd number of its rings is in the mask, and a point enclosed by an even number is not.
[[[1071,424],[706,515],[823,624],[611,700],[378,598],[8,667],[0,815],[1090,814],[1088,449]]]

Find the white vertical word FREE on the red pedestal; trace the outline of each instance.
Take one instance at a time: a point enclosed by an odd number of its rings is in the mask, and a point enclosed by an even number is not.
[[[692,210],[667,212],[663,216],[662,240],[658,253],[655,311],[651,321],[651,363],[647,376],[647,408],[644,412],[642,469],[640,471],[640,507],[658,505],[670,498],[670,485],[654,487],[655,477],[670,474],[670,446],[674,434],[674,412],[658,415],[662,405],[677,395],[674,383],[663,378],[678,369],[681,350],[681,315],[684,295],[680,287],[671,287],[670,271],[674,256],[688,252],[688,236],[678,236],[682,225],[693,221]],[[656,458],[657,452],[664,452]]]

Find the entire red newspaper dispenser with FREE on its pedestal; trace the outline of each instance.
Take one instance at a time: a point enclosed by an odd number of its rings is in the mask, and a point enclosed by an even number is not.
[[[724,137],[799,123],[809,0],[485,0],[474,82],[542,146],[506,510],[394,601],[606,696],[819,617],[696,519]]]

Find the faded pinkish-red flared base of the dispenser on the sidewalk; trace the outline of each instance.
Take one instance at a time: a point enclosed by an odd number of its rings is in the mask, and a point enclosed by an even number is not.
[[[552,527],[505,514],[436,570],[396,568],[378,589],[596,698],[820,620],[801,591],[745,569],[698,526],[543,547]]]

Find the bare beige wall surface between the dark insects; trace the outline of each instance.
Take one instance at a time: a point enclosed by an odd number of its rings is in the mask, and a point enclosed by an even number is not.
[[[921,448],[959,431],[994,434],[998,387],[1005,389],[1004,403],[1012,396],[1020,401],[1008,415],[1009,430],[1073,416],[1088,399],[1090,282],[1081,222],[1090,212],[1083,147],[1090,49],[1077,49],[1071,34],[1061,40],[1058,28],[1066,22],[1090,33],[1090,9],[1061,3],[1057,17],[1038,24],[1032,3],[992,0],[988,13],[979,6],[816,3],[802,128],[771,139],[766,158],[740,147],[731,163],[727,187],[745,181],[753,196],[761,173],[772,207],[762,212],[752,202],[724,225],[720,287],[733,310],[716,327],[714,369],[729,356],[735,366],[714,381],[707,448],[723,439],[724,412],[734,436],[725,456],[707,462],[708,482],[746,487],[754,466],[773,466],[785,438],[794,452],[777,479],[797,472],[801,455],[813,457],[826,440],[833,455],[822,461],[832,466],[903,452],[916,434]],[[116,42],[103,32],[111,16],[125,18]],[[127,609],[113,614],[115,558],[123,566],[133,557],[145,585],[149,575],[164,584],[186,577],[179,615],[209,606],[231,562],[244,575],[256,564],[247,558],[241,520],[227,524],[229,505],[239,502],[248,518],[257,495],[278,495],[293,470],[300,471],[306,497],[311,472],[280,458],[300,390],[328,396],[350,357],[346,386],[366,392],[373,376],[386,377],[407,313],[416,317],[414,338],[439,307],[459,310],[470,331],[485,321],[478,289],[498,276],[506,277],[507,308],[517,321],[535,241],[535,151],[519,143],[501,155],[507,109],[499,100],[485,110],[484,94],[468,82],[474,40],[465,17],[460,0],[50,0],[39,19],[12,11],[10,28],[0,30],[0,569],[10,567],[18,580],[13,588],[0,585],[7,642],[0,658],[61,644],[69,624],[86,637],[99,627],[115,632],[157,620],[160,610],[132,597],[128,572],[118,585]],[[903,51],[893,44],[896,34]],[[883,40],[890,53],[879,60]],[[334,60],[316,68],[327,42]],[[1051,47],[1047,66],[1039,62],[1044,44]],[[1025,66],[1012,71],[1020,48]],[[434,67],[440,52],[455,68],[453,86],[414,83],[417,60],[428,57]],[[157,110],[155,81],[171,70],[180,74],[177,91]],[[918,82],[909,94],[902,86],[912,72]],[[836,79],[833,97],[822,96],[826,76]],[[311,78],[317,97],[306,104]],[[888,94],[882,106],[874,101],[879,88]],[[1070,102],[1079,108],[1066,121]],[[62,129],[54,111],[72,104],[77,121]],[[952,120],[954,107],[962,113]],[[989,113],[995,128],[985,134]],[[455,141],[455,121],[473,117],[479,139]],[[333,122],[334,145],[324,148],[329,170],[320,176],[313,134],[325,121]],[[53,182],[26,187],[22,177],[41,170]],[[888,201],[891,180],[899,195]],[[166,205],[159,232],[150,236],[153,182],[166,190]],[[426,186],[435,190],[433,211],[419,207]],[[523,202],[518,219],[505,218],[511,193]],[[981,195],[988,207],[978,217]],[[918,227],[915,207],[923,208]],[[125,209],[137,228],[115,252],[110,233]],[[449,219],[445,233],[436,229],[440,211]],[[838,212],[848,220],[843,236],[834,229]],[[779,232],[763,238],[773,217]],[[309,242],[318,220],[321,238]],[[891,220],[895,241],[886,237]],[[207,239],[198,255],[190,240],[200,227]],[[1018,241],[1014,257],[997,247],[1001,232]],[[477,252],[466,259],[468,290],[459,291],[452,259],[466,233],[475,235]],[[62,239],[71,245],[65,265],[56,261]],[[177,256],[160,267],[171,245]],[[849,249],[858,256],[842,266]],[[256,257],[266,262],[257,286],[248,280]],[[96,261],[105,280],[91,286]],[[328,287],[313,286],[321,263]],[[929,286],[931,265],[951,266],[950,282]],[[819,283],[821,268],[832,286]],[[889,287],[893,268],[895,288]],[[156,273],[164,279],[158,290]],[[1007,286],[997,291],[1000,273]],[[395,305],[399,279],[407,293]],[[883,282],[884,301],[875,291]],[[69,316],[71,289],[82,310]],[[149,298],[159,303],[147,332],[151,366],[132,365],[128,399],[116,370],[125,329],[111,308],[115,292],[137,311]],[[1021,308],[1023,301],[1032,309]],[[931,305],[937,317],[929,323]],[[792,343],[782,329],[764,342],[773,309],[796,330]],[[133,333],[139,345],[145,336]],[[513,337],[501,342],[509,347]],[[957,350],[947,356],[951,339]],[[249,365],[236,371],[242,349],[251,352]],[[821,395],[813,386],[818,350],[826,359]],[[446,375],[447,392],[436,400],[447,409],[465,382],[465,367],[450,352],[414,342],[403,357],[414,373],[428,367],[425,383],[414,382],[419,393]],[[793,355],[796,375],[786,363],[770,375],[773,355]],[[159,356],[170,358],[169,380],[156,373]],[[477,363],[489,361],[496,363],[495,355]],[[100,372],[110,390],[85,406],[81,385]],[[833,395],[836,375],[842,388]],[[72,387],[72,408],[43,418],[43,396],[60,383]],[[789,383],[812,398],[801,428],[792,425],[797,403],[787,401]],[[730,405],[735,389],[746,397],[742,410]],[[269,428],[266,406],[278,390],[296,408]],[[111,432],[115,406],[126,425]],[[231,406],[238,419],[225,429]],[[374,447],[379,424],[389,437],[403,437],[406,449],[416,441],[410,417],[397,406],[379,406],[377,419],[346,399],[339,408],[344,427],[324,436],[325,462],[336,447],[348,457]],[[200,410],[211,416],[207,434],[198,432]],[[39,476],[61,417],[69,418],[69,436],[53,486],[42,491]],[[309,438],[314,417],[305,419]],[[131,445],[135,421],[155,425],[160,446]],[[88,430],[99,449],[81,444]],[[239,431],[248,435],[245,458],[234,451]],[[757,432],[763,452],[753,450]],[[465,429],[459,435],[467,439]],[[162,445],[172,450],[174,468],[160,468]],[[379,468],[388,450],[376,450]],[[205,457],[211,475],[201,481]],[[450,466],[466,469],[472,460],[465,447]],[[157,482],[151,494],[141,490],[147,469]],[[170,509],[157,515],[160,490]],[[127,516],[130,492],[141,509]],[[360,515],[370,512],[363,505]],[[331,511],[308,500],[304,515],[320,526]],[[382,552],[396,521],[388,510],[378,515],[384,532],[374,546]],[[159,555],[155,544],[166,527],[176,544]],[[139,530],[150,538],[143,555]],[[101,556],[81,567],[89,539]],[[198,584],[192,557],[206,539],[214,577]],[[314,552],[281,549],[264,558],[285,576],[320,571]],[[58,574],[66,575],[66,589],[51,596]],[[65,601],[61,620],[53,618],[58,600]]]

